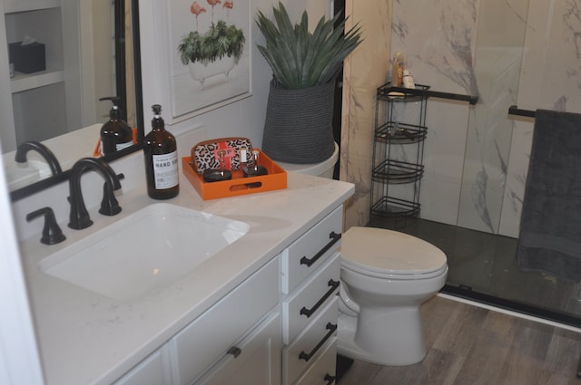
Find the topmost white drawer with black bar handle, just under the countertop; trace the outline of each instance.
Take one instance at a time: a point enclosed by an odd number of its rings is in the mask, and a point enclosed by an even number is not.
[[[283,294],[291,293],[300,281],[339,248],[342,227],[343,207],[340,206],[282,252]]]

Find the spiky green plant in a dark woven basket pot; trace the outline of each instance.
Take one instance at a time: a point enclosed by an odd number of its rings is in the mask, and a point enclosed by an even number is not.
[[[281,3],[272,13],[274,22],[261,11],[256,19],[266,39],[258,49],[273,75],[262,150],[282,162],[318,163],[335,149],[335,80],[343,60],[361,42],[360,27],[345,32],[346,20],[337,24],[336,14],[330,20],[321,17],[310,33],[306,11],[295,25]]]

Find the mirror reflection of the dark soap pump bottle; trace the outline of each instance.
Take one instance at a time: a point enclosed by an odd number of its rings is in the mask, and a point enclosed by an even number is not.
[[[109,121],[101,128],[101,155],[109,155],[133,145],[133,131],[121,117],[119,109],[121,98],[108,96],[99,101],[113,102],[113,107],[109,111]]]

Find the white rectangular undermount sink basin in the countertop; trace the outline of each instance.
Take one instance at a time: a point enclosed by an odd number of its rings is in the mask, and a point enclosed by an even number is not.
[[[119,301],[171,284],[248,232],[243,222],[155,203],[44,258],[40,268]]]

